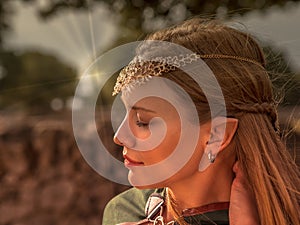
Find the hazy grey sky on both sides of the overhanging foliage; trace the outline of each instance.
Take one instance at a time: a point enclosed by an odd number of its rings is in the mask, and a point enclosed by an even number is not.
[[[64,11],[42,21],[31,5],[16,5],[13,31],[5,39],[6,46],[17,50],[41,49],[57,55],[79,71],[84,71],[94,53],[103,51],[116,36],[113,15],[104,7],[97,7],[90,14]],[[254,11],[234,18],[234,21],[241,22],[251,33],[283,50],[292,68],[300,71],[299,3],[284,8],[272,7],[264,13]]]

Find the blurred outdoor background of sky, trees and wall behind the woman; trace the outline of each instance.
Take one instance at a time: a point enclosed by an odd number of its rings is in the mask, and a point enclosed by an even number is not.
[[[299,1],[1,0],[0,225],[101,224],[105,204],[128,187],[98,175],[78,150],[71,109],[79,79],[109,49],[199,15],[239,24],[261,41],[284,95],[282,135],[299,164]],[[96,119],[120,158],[111,141],[112,83]]]

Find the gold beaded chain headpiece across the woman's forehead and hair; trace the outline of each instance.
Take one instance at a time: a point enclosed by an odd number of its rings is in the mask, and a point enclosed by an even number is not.
[[[128,64],[128,66],[121,70],[112,95],[117,95],[124,89],[130,88],[129,85],[134,86],[135,84],[143,84],[151,77],[162,76],[164,73],[184,67],[198,59],[234,59],[263,67],[261,63],[254,59],[222,54],[199,55],[191,53],[172,57],[155,57],[147,61],[137,56]]]

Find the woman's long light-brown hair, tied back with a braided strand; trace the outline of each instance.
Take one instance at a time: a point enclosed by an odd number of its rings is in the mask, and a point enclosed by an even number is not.
[[[235,58],[203,59],[223,91],[227,115],[239,120],[233,139],[235,153],[254,192],[260,224],[299,225],[299,169],[278,135],[277,102],[257,42],[218,21],[199,18],[155,32],[147,39],[176,43],[200,55],[231,55],[261,65]],[[140,48],[140,52],[147,50],[146,46]],[[192,78],[180,70],[164,76],[187,91],[200,120],[210,119],[206,96]],[[180,217],[176,206],[174,213]]]

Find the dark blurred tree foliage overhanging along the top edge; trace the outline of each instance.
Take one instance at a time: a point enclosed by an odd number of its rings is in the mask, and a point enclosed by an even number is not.
[[[16,0],[15,0],[16,1]],[[31,3],[42,18],[55,16],[68,9],[93,10],[96,4],[105,4],[120,24],[119,43],[133,40],[194,15],[227,18],[243,15],[252,10],[266,10],[271,6],[283,7],[288,2],[300,0],[18,0]],[[0,45],[3,32],[10,26],[9,18],[14,12],[12,0],[0,1]],[[132,39],[133,38],[133,39]],[[117,43],[117,44],[119,44]]]

